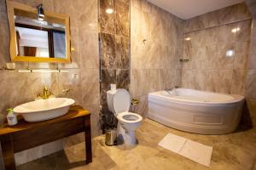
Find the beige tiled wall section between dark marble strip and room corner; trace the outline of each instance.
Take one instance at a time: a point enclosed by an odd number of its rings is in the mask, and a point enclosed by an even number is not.
[[[148,93],[181,84],[183,20],[145,0],[131,0],[131,96],[146,116]]]

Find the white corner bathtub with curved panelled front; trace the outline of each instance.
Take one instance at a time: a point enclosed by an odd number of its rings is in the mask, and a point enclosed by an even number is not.
[[[148,94],[148,118],[189,133],[231,133],[241,119],[244,97],[188,88]]]

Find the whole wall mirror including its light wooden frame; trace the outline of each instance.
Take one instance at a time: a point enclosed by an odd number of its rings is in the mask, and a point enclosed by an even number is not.
[[[69,17],[7,1],[12,61],[70,62]],[[43,8],[44,9],[44,8]]]

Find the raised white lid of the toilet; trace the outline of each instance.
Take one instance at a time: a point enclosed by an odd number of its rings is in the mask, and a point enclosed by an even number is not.
[[[121,112],[129,111],[131,104],[130,94],[125,89],[117,89],[113,96],[113,109],[118,115]]]

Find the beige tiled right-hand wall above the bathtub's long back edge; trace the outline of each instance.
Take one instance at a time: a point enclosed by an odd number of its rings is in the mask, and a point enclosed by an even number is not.
[[[219,17],[221,16],[221,17]],[[245,3],[186,20],[182,86],[224,94],[246,92],[251,15]],[[243,20],[243,21],[240,21]],[[240,31],[232,32],[234,28]],[[231,57],[228,50],[234,50]]]

